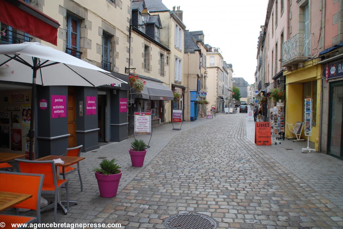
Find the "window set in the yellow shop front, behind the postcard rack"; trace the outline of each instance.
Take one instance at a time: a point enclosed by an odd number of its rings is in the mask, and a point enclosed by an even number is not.
[[[304,120],[304,106],[305,99],[311,98],[312,105],[312,126],[316,126],[316,116],[317,116],[317,81],[305,82],[303,84],[303,122]]]

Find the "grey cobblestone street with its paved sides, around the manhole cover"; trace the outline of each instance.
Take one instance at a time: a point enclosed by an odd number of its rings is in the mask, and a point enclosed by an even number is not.
[[[155,128],[142,168],[130,165],[133,138],[84,153],[84,191],[69,175],[70,199],[79,204],[66,216],[59,212],[58,221],[165,228],[169,216],[192,212],[212,217],[220,229],[343,228],[343,161],[301,153],[305,142],[257,147],[254,125],[237,113],[186,122],[181,131]],[[122,166],[115,198],[99,197],[91,172],[98,157],[118,158]],[[43,222],[52,216],[43,213]]]

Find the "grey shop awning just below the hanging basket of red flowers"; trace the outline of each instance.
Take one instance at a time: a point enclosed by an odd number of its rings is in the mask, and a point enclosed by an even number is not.
[[[174,100],[174,95],[167,86],[146,81],[141,92],[132,91],[132,99]]]

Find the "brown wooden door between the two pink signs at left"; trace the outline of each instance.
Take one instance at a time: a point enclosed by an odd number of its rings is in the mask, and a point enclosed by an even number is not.
[[[76,147],[76,99],[75,88],[68,87],[68,147]]]

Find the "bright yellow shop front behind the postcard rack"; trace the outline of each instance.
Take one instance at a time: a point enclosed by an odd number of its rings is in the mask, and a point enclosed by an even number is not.
[[[293,71],[284,71],[286,77],[286,123],[303,123],[301,138],[305,136],[305,99],[312,99],[311,133],[309,141],[315,143],[316,151],[319,150],[320,132],[320,92],[322,66],[318,59],[304,62],[304,66]],[[307,123],[308,124],[308,123]],[[286,137],[292,137],[291,132],[286,128]]]

